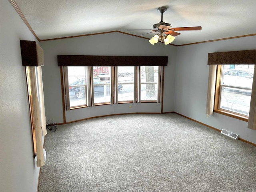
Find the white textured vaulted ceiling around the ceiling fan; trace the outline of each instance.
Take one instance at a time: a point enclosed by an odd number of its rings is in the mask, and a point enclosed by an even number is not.
[[[256,34],[256,0],[14,0],[40,40],[122,31],[141,35],[160,22],[158,7],[167,6],[163,21],[180,31],[172,44]],[[154,34],[144,35],[151,38]]]

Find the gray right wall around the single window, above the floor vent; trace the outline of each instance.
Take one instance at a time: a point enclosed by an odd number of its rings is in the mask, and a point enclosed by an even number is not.
[[[247,128],[247,122],[214,113],[206,118],[208,86],[208,53],[256,49],[256,36],[216,42],[179,46],[177,49],[174,111],[219,130],[239,134],[256,143],[256,130]]]

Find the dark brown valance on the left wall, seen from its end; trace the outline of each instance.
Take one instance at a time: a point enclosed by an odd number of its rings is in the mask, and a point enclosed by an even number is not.
[[[35,41],[20,40],[22,66],[43,66],[44,50]]]

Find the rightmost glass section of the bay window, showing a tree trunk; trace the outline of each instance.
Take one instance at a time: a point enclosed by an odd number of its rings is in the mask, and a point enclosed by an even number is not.
[[[158,66],[142,66],[140,73],[140,100],[156,101],[158,92]]]

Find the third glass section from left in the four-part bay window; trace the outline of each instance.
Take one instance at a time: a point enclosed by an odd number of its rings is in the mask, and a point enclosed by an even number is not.
[[[118,102],[134,101],[134,67],[117,67]]]

